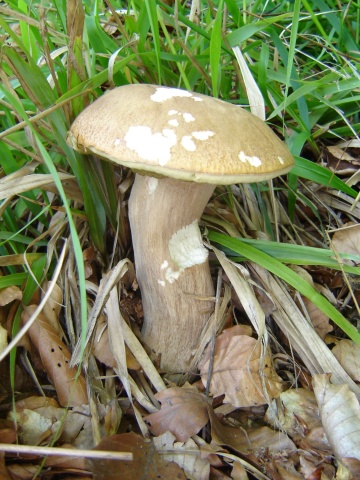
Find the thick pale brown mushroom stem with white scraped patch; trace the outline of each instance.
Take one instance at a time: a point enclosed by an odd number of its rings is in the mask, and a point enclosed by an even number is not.
[[[193,357],[214,307],[197,223],[214,188],[140,174],[132,188],[129,219],[144,310],[142,334],[166,373],[196,367]]]

